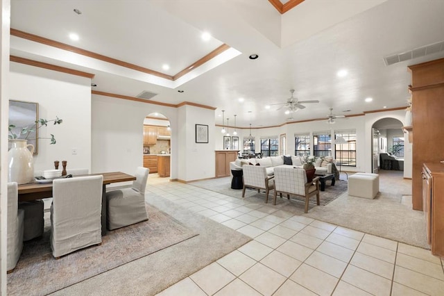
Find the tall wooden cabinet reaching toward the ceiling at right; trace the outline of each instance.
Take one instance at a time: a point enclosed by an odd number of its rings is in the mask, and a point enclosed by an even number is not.
[[[412,202],[422,211],[422,165],[444,160],[444,58],[408,67],[411,72]],[[409,138],[410,141],[410,138]]]

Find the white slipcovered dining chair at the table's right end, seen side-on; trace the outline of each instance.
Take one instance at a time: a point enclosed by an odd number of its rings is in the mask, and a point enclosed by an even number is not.
[[[146,181],[150,170],[137,167],[132,188],[111,190],[106,193],[106,222],[109,230],[126,227],[148,220],[145,206]]]

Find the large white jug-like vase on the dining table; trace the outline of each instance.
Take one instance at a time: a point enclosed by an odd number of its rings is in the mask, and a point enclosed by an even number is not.
[[[9,140],[12,147],[8,151],[8,181],[18,184],[34,181],[34,145],[26,140]],[[28,149],[31,147],[31,149]]]

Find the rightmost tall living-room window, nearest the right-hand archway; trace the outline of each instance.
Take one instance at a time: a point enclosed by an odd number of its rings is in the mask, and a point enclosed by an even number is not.
[[[336,144],[336,165],[343,167],[356,167],[356,131],[335,131],[335,140],[341,141],[345,144]]]

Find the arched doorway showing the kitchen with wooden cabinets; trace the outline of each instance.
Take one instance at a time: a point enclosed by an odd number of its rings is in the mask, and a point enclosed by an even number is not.
[[[150,169],[148,183],[168,181],[171,171],[171,125],[160,113],[144,118],[144,167]]]

